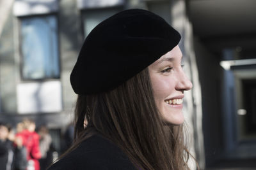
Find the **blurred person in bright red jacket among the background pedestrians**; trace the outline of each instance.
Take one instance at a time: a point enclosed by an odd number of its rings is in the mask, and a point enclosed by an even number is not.
[[[28,168],[40,170],[39,159],[42,157],[39,146],[39,135],[35,132],[36,124],[33,120],[23,120],[24,130],[17,133],[17,138],[22,140],[22,145],[26,147]]]

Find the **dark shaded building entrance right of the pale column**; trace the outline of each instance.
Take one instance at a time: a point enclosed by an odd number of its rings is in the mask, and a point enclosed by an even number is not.
[[[202,90],[205,164],[256,167],[256,1],[188,1]]]

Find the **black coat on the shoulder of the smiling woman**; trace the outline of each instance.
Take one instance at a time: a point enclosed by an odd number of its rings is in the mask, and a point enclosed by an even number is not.
[[[115,144],[99,135],[81,143],[49,170],[132,170],[136,169]]]

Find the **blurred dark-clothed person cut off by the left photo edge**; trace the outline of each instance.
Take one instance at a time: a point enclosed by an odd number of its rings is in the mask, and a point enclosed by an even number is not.
[[[9,139],[11,127],[0,122],[0,169],[13,169],[13,143]]]

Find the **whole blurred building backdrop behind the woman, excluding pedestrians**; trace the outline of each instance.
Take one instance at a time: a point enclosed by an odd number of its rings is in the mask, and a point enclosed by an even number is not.
[[[34,120],[49,130],[55,157],[63,153],[83,40],[129,8],[153,11],[182,34],[194,85],[184,114],[201,169],[256,169],[255,0],[0,0],[0,121]]]

